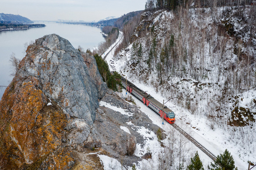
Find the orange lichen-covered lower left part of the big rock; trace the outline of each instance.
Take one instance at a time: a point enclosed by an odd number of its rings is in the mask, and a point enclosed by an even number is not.
[[[0,102],[0,150],[6,169],[34,164],[62,144],[65,114],[55,102],[47,106],[38,85],[33,77],[13,81]]]

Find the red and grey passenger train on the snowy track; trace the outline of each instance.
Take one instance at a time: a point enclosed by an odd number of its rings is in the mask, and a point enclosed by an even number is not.
[[[168,123],[172,124],[175,122],[175,114],[171,109],[167,108],[166,106],[164,106],[164,109],[162,109],[163,105],[159,101],[155,100],[154,97],[150,96],[145,91],[139,89],[133,83],[131,83],[130,81],[122,77],[121,83],[124,88],[126,88],[126,81],[127,81],[127,91],[130,94],[133,94],[140,101],[142,101],[147,107],[151,108],[154,112],[159,114],[161,117],[162,117],[162,114],[164,114],[164,119]]]

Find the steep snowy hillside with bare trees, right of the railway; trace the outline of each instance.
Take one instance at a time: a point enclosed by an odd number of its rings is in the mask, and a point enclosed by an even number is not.
[[[148,0],[124,25],[115,51],[121,75],[206,118],[243,159],[256,149],[256,6],[250,3]]]

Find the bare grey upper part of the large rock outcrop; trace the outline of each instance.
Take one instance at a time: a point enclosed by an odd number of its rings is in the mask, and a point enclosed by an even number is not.
[[[22,62],[21,77],[36,77],[40,89],[56,101],[70,117],[95,120],[98,99],[107,86],[98,72],[94,57],[86,66],[82,54],[70,42],[56,34],[43,36],[28,46]],[[86,59],[86,58],[85,58]]]

